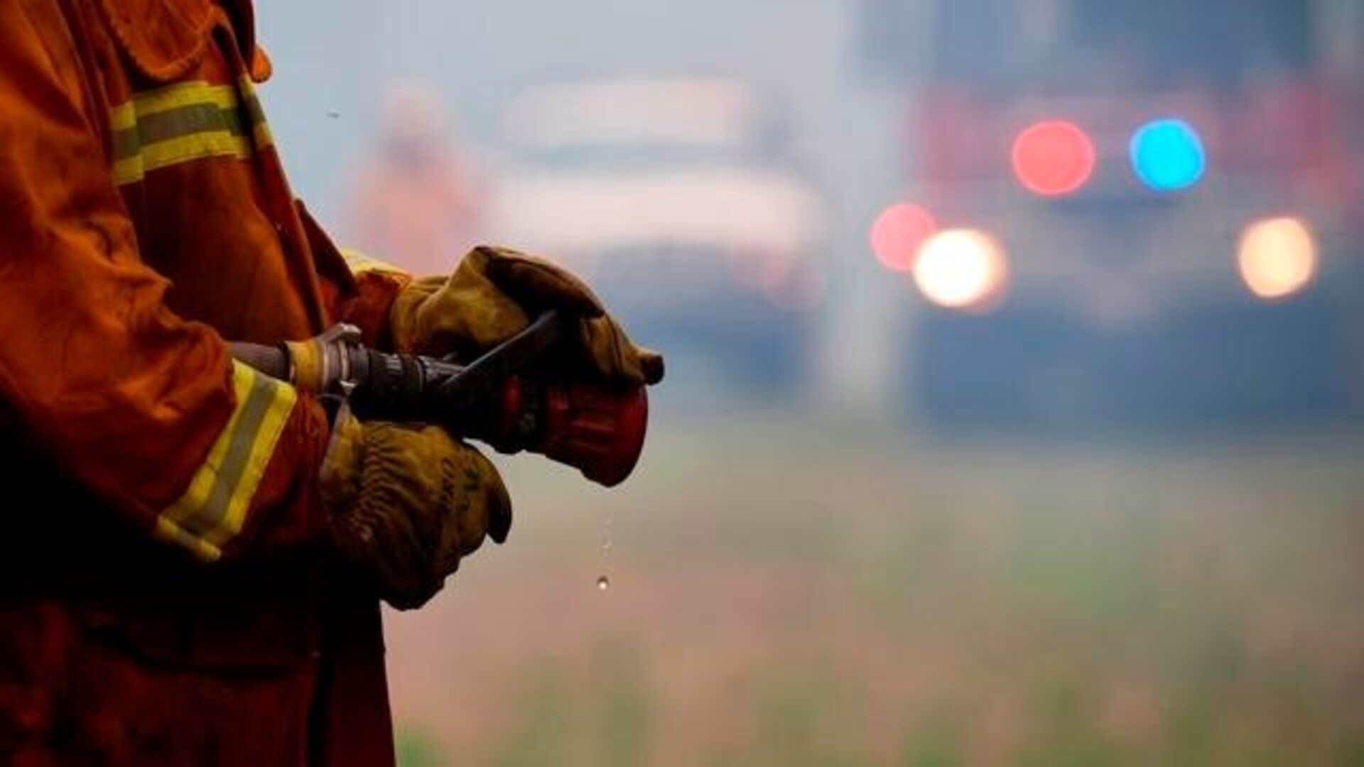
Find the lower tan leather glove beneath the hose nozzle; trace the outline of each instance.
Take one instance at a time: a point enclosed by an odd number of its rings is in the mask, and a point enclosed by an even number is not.
[[[319,476],[333,543],[400,610],[426,605],[490,536],[512,501],[496,469],[445,430],[360,423],[342,409]]]

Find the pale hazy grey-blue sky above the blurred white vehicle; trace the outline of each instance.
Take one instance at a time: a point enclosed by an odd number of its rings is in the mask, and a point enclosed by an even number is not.
[[[262,3],[265,89],[299,191],[326,213],[391,83],[432,85],[458,130],[496,141],[498,111],[547,79],[741,74],[820,98],[851,3],[786,0],[334,0]],[[794,105],[797,109],[801,104]]]

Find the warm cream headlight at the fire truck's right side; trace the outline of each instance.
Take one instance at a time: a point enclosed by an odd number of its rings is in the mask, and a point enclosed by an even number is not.
[[[1316,243],[1300,218],[1264,218],[1241,233],[1241,281],[1263,300],[1301,292],[1316,277]]]

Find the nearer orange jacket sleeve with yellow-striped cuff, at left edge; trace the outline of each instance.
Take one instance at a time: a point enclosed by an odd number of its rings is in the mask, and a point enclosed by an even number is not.
[[[0,4],[0,438],[205,561],[311,539],[325,412],[162,303],[56,5]]]

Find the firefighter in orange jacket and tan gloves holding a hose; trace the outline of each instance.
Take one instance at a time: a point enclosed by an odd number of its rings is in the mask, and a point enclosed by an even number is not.
[[[228,341],[346,321],[445,353],[561,307],[577,366],[662,377],[543,259],[348,265],[289,191],[269,74],[250,0],[0,3],[0,763],[394,762],[381,599],[503,540],[507,491]]]

